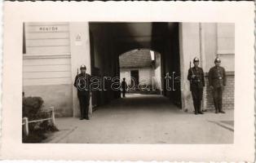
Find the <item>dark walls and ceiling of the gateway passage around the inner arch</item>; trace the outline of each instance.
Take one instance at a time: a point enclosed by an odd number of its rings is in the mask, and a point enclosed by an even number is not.
[[[104,77],[120,77],[119,56],[127,51],[148,49],[161,54],[162,95],[181,108],[179,23],[91,22],[89,27],[91,74],[104,81],[105,89],[93,92],[94,107],[121,97],[120,90],[111,89],[113,81],[104,80]]]

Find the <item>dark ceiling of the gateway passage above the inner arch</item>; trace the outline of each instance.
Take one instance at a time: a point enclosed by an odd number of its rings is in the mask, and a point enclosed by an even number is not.
[[[116,51],[119,55],[134,49],[151,49],[161,53],[161,45],[166,37],[168,30],[173,23],[167,22],[99,22],[93,23],[95,29],[104,26],[104,29],[111,33]],[[98,28],[97,33],[104,32]]]

